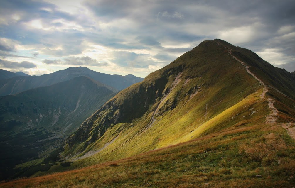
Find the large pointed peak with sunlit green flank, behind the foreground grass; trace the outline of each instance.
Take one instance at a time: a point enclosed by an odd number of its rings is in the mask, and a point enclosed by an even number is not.
[[[293,74],[250,50],[204,41],[114,96],[60,151],[84,166],[228,127],[295,121],[294,83]]]

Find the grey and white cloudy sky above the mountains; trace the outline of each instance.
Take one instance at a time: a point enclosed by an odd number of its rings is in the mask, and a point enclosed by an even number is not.
[[[1,0],[0,68],[145,77],[204,40],[295,70],[294,0]]]

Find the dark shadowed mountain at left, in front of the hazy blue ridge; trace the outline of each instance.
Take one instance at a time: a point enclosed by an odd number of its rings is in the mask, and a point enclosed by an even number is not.
[[[1,166],[42,158],[117,93],[80,76],[0,97]]]

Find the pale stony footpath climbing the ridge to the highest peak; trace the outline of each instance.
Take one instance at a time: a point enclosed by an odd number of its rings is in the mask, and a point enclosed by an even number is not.
[[[227,47],[225,47],[225,48],[227,48]],[[227,53],[229,53],[230,56],[232,56],[235,60],[237,60],[237,61],[240,62],[243,66],[245,66],[245,67],[246,67],[246,71],[247,71],[250,75],[252,75],[256,80],[258,80],[258,82],[259,82],[261,85],[263,85],[263,92],[261,93],[260,98],[261,98],[261,99],[265,99],[265,94],[266,94],[266,92],[268,91],[268,86],[265,85],[265,84],[263,83],[263,81],[261,81],[258,77],[256,77],[256,76],[255,76],[255,75],[249,70],[249,66],[246,65],[246,63],[242,62],[242,61],[239,60],[237,57],[235,57],[234,55],[232,55],[232,49],[230,49],[230,48],[227,48],[227,49],[229,49],[229,50],[227,51]],[[280,93],[281,93],[281,92],[280,92]],[[269,114],[268,116],[266,116],[266,123],[276,123],[276,121],[277,121],[277,119],[278,119],[278,116],[277,116],[277,114],[278,114],[278,109],[274,106],[274,102],[275,102],[275,100],[273,100],[272,98],[268,98],[267,101],[268,101],[268,109],[271,111],[271,114]]]

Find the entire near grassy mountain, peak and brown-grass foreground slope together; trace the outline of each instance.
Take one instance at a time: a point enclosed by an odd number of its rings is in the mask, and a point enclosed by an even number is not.
[[[294,83],[250,50],[206,40],[1,187],[294,186]]]

